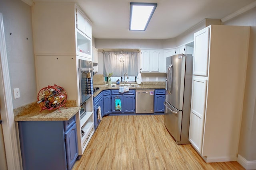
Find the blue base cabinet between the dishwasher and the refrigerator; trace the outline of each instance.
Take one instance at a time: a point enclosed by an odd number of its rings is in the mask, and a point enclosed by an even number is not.
[[[154,96],[154,112],[163,113],[164,112],[164,99],[165,99],[165,90],[156,89]]]

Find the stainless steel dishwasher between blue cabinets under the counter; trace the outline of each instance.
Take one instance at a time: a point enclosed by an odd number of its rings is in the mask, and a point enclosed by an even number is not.
[[[135,113],[154,113],[155,90],[136,90]]]

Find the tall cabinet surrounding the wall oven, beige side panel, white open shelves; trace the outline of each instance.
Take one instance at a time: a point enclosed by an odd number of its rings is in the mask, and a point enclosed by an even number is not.
[[[80,106],[78,59],[92,61],[92,26],[75,3],[35,2],[32,25],[38,91],[48,85],[62,86],[67,99]],[[94,128],[93,98],[86,100],[86,116],[76,114],[78,155],[88,145]],[[81,136],[83,131],[90,132]],[[87,133],[86,133],[87,134]]]

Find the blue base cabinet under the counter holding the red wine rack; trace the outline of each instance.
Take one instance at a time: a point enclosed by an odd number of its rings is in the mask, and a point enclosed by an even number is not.
[[[75,116],[69,121],[19,121],[23,170],[71,170],[78,156]]]

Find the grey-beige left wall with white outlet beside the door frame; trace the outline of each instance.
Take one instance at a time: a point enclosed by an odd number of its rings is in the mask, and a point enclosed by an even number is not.
[[[20,88],[20,98],[12,102],[14,109],[36,101],[31,7],[21,0],[0,0],[11,89]],[[13,93],[13,91],[12,91]]]

